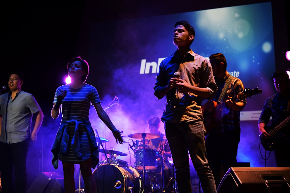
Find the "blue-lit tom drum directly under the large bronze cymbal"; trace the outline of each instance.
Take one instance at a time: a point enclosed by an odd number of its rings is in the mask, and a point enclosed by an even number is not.
[[[135,168],[138,170],[143,170],[143,163],[145,165],[145,170],[154,170],[157,168],[157,163],[156,163],[156,156],[158,155],[157,150],[155,149],[149,149],[145,148],[145,153],[143,156],[143,149],[138,149],[135,152],[134,157],[136,158],[135,161]],[[145,159],[143,159],[143,157]]]

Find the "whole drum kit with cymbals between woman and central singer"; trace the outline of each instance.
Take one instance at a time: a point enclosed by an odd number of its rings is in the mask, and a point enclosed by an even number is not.
[[[163,161],[162,163],[157,161],[157,158],[160,157],[163,160],[162,156],[157,150],[146,148],[147,146],[145,145],[146,139],[155,139],[160,137],[160,135],[135,133],[128,135],[128,137],[142,139],[143,141],[139,146],[135,146],[138,149],[134,150],[136,159],[134,167],[129,166],[128,162],[118,159],[118,156],[126,156],[126,153],[99,149],[99,152],[106,155],[106,159],[100,160],[97,168],[93,171],[97,193],[173,192],[168,187],[164,188],[163,185],[163,167],[161,167],[163,166]],[[102,142],[106,143],[108,140],[99,138],[97,142],[102,145]],[[132,146],[129,146],[132,149]]]

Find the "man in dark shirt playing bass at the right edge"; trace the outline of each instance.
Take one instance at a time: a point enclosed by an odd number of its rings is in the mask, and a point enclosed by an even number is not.
[[[273,143],[272,146],[275,149],[277,166],[290,167],[290,128],[289,123],[285,122],[285,120],[289,120],[290,115],[290,80],[285,71],[276,71],[272,75],[272,81],[274,82],[277,93],[269,97],[264,103],[264,107],[258,121],[259,134],[260,138],[266,141],[271,139],[271,144]],[[276,126],[281,122],[285,122],[283,127],[281,127],[281,130],[274,136],[273,134],[269,134],[270,131],[273,131],[273,128],[271,128],[271,126],[269,126],[270,129],[268,129],[268,127],[266,128],[270,117],[272,117],[271,123],[273,126]]]

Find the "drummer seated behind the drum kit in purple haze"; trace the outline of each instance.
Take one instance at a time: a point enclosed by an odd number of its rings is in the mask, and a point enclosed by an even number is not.
[[[172,182],[167,187],[167,183],[169,182],[170,178],[172,177],[172,167],[171,163],[168,161],[168,158],[171,158],[171,152],[169,149],[169,145],[167,143],[167,139],[165,137],[165,134],[161,133],[159,131],[160,127],[160,118],[158,117],[151,117],[147,120],[149,132],[158,134],[160,137],[155,139],[146,139],[145,145],[147,148],[155,149],[158,151],[159,155],[162,155],[163,163],[164,163],[164,188],[172,189]],[[161,156],[160,156],[161,157]],[[160,158],[157,158],[157,163],[162,164],[162,160],[158,160]],[[158,166],[161,170],[161,165]]]

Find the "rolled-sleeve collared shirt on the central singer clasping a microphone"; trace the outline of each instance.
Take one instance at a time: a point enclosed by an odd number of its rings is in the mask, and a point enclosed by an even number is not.
[[[183,58],[179,58],[175,52],[160,63],[154,86],[156,97],[156,91],[166,86],[175,72],[179,72],[180,79],[189,85],[208,89],[211,93],[209,99],[215,95],[217,86],[209,60],[190,49]],[[165,110],[161,118],[163,122],[180,123],[203,120],[201,104],[204,98],[191,92],[179,93],[175,90],[175,102],[172,103],[170,102],[171,91],[166,94]]]

